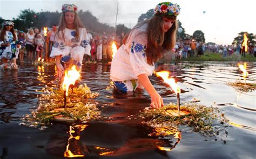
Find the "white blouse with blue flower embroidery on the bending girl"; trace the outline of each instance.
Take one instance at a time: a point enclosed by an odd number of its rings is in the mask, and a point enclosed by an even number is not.
[[[110,78],[112,81],[138,79],[141,74],[151,76],[154,65],[147,63],[147,24],[134,29],[111,62]]]

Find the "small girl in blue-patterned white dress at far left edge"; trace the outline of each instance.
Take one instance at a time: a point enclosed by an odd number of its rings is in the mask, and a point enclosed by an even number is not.
[[[14,30],[14,23],[10,20],[3,22],[0,34],[0,59],[4,62],[4,68],[8,68],[8,60],[11,62],[11,68],[17,69],[16,60],[19,54],[20,44],[17,44],[18,38]]]

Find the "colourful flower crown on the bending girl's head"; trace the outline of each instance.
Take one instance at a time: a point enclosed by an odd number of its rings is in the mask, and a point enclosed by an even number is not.
[[[173,4],[171,2],[159,3],[154,9],[154,15],[169,15],[177,17],[180,12],[180,7],[178,4]]]

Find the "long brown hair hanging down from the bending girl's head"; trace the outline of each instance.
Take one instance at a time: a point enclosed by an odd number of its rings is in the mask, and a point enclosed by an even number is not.
[[[164,32],[164,18],[175,20],[172,27],[166,33]],[[158,61],[163,56],[164,50],[173,49],[176,43],[176,32],[178,28],[178,22],[176,21],[175,16],[156,15],[152,17],[150,20],[145,20],[142,23],[134,26],[130,33],[135,28],[138,28],[144,24],[147,24],[147,63],[153,65],[154,62]],[[130,33],[125,35],[123,39],[123,44],[125,44]]]

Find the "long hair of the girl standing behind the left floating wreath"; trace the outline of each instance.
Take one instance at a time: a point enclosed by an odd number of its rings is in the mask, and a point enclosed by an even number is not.
[[[62,13],[62,16],[60,17],[60,20],[59,20],[59,27],[58,27],[58,31],[57,31],[57,35],[58,35],[58,38],[64,38],[65,40],[65,37],[64,37],[64,29],[66,27],[66,20],[65,20],[65,12]],[[80,20],[78,14],[75,12],[75,20],[74,20],[74,26],[75,26],[75,30],[76,30],[76,39],[79,40],[79,27],[85,27],[82,23],[82,21]],[[63,37],[59,37],[59,33],[62,33],[62,36]]]

